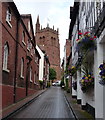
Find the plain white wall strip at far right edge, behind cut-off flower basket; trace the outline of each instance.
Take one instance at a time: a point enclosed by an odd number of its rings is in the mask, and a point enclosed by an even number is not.
[[[95,79],[95,116],[96,118],[104,118],[105,119],[105,86],[102,86],[99,84],[99,65],[103,63],[103,60],[105,60],[105,34],[99,37],[97,39],[97,55],[96,55],[96,60],[97,60],[97,66],[96,66],[96,79]],[[104,40],[103,40],[104,39]]]

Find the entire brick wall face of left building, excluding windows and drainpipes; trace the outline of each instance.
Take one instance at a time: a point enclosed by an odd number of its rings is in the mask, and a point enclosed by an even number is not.
[[[33,33],[32,29],[30,31],[30,37],[29,34],[27,34],[26,29],[24,25],[22,24],[21,21],[19,21],[19,26],[18,26],[18,49],[17,49],[17,55],[16,55],[16,33],[17,33],[17,17],[16,17],[16,11],[13,10],[13,8],[10,7],[11,13],[12,13],[12,20],[11,20],[11,25],[12,28],[7,24],[6,22],[6,11],[10,3],[3,2],[2,3],[2,61],[3,61],[3,55],[4,55],[4,45],[6,42],[8,42],[9,45],[9,57],[8,57],[8,69],[10,72],[5,72],[3,71],[2,76],[2,106],[3,108],[13,104],[14,100],[14,80],[15,80],[15,57],[17,56],[17,68],[16,68],[16,101],[19,101],[23,98],[26,97],[26,75],[27,75],[27,63],[28,59],[27,57],[27,41],[28,39],[33,39]],[[24,23],[27,27],[29,19],[27,19]],[[24,45],[22,43],[22,32],[23,30],[25,31],[25,43]],[[29,51],[29,55],[32,58],[32,61],[30,63],[30,66],[32,66],[32,83],[30,83],[28,79],[28,95],[31,95],[36,92],[36,89],[39,88],[38,85],[34,85],[34,73],[36,72],[36,82],[38,84],[39,81],[39,66],[35,63],[35,57],[36,55],[34,54],[33,56],[31,55],[31,50]],[[21,58],[24,58],[24,78],[20,78],[20,70],[21,70]],[[2,65],[3,66],[3,65]],[[30,75],[29,75],[30,76]]]

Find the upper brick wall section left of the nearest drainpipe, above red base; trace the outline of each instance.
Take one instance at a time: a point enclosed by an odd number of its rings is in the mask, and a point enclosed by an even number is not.
[[[11,9],[12,19],[11,25],[12,28],[6,22],[6,11],[8,8],[8,4],[6,2],[2,2],[2,61],[3,61],[3,53],[4,53],[4,45],[8,42],[9,45],[9,58],[8,58],[8,69],[10,73],[6,73],[3,71],[3,83],[13,85],[14,78],[14,69],[15,69],[15,47],[16,47],[16,16]]]

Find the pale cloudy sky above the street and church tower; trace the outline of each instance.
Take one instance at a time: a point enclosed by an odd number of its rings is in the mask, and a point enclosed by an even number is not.
[[[70,25],[70,6],[74,0],[14,0],[20,14],[31,14],[33,27],[39,15],[42,28],[59,28],[60,58],[64,56],[64,45],[68,39]]]

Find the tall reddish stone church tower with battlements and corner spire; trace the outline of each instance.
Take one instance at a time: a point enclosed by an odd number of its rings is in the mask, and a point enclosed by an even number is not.
[[[60,70],[60,45],[59,45],[59,32],[58,29],[54,30],[49,28],[40,28],[39,16],[36,22],[36,43],[38,46],[46,52],[49,57],[50,67],[54,68],[57,72],[57,80],[61,79]]]

